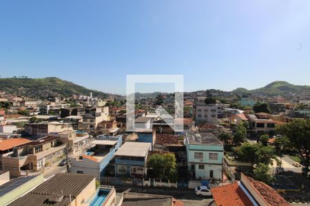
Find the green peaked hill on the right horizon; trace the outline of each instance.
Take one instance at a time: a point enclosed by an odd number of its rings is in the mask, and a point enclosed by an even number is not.
[[[294,93],[300,93],[304,87],[310,88],[310,86],[300,86],[289,84],[289,82],[285,81],[275,81],[267,84],[265,87],[261,87],[259,89],[247,90],[244,88],[238,88],[231,93],[237,94],[251,94],[251,95],[293,95]]]

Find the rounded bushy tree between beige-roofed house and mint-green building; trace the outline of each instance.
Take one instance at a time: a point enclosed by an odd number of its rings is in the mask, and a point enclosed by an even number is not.
[[[147,159],[147,168],[152,170],[152,178],[177,180],[176,157],[173,153],[150,155]]]

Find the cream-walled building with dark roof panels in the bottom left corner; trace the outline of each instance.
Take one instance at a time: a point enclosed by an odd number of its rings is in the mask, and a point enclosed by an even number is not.
[[[11,179],[7,183],[0,185],[0,205],[8,205],[10,202],[41,183],[43,183],[43,174],[20,176]]]

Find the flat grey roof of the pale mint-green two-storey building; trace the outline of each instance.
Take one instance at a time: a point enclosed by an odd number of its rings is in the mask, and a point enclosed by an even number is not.
[[[218,145],[223,144],[212,133],[189,133],[186,135],[189,144]]]

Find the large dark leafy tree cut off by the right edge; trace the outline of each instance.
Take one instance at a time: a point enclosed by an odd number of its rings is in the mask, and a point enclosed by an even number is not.
[[[304,161],[303,174],[307,175],[310,159],[310,119],[295,119],[293,122],[280,125],[277,131],[289,138],[289,141],[300,152]]]

